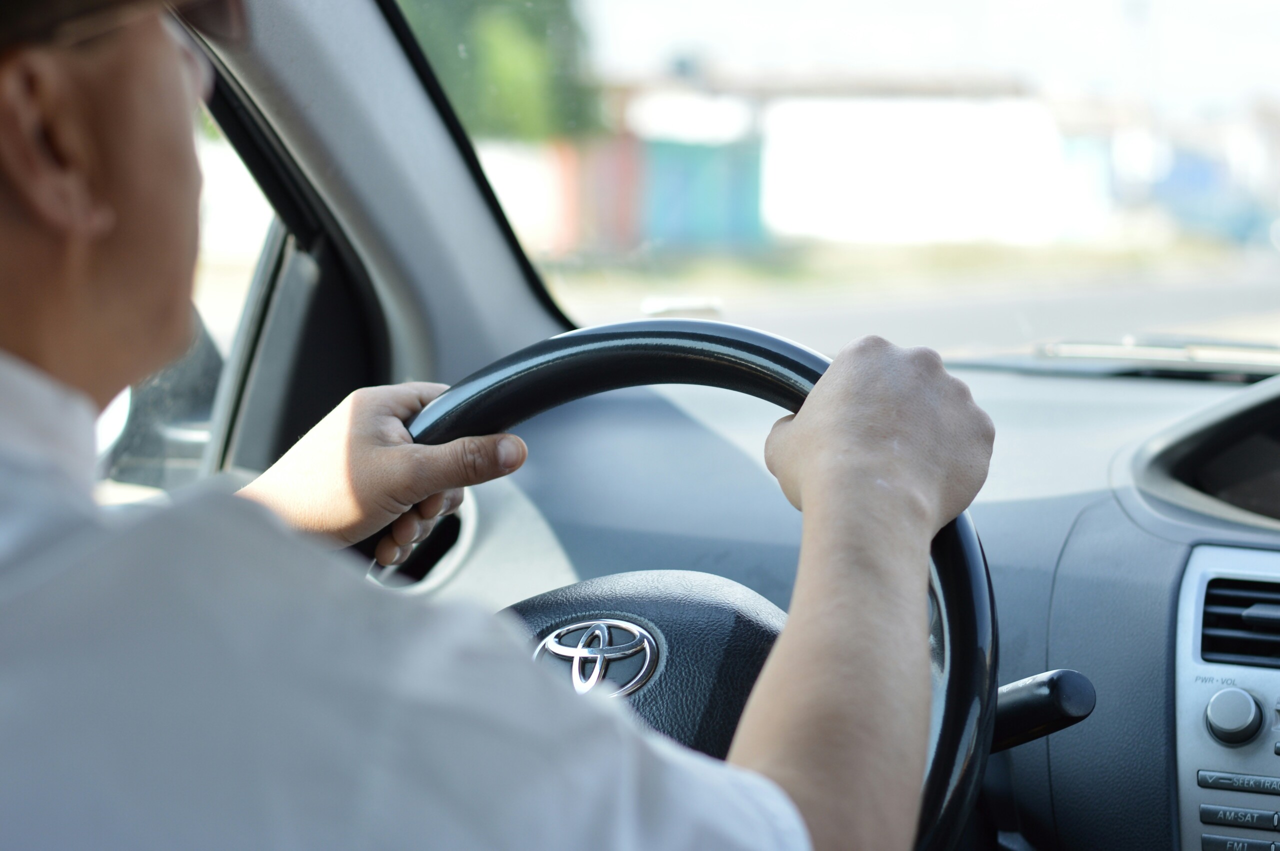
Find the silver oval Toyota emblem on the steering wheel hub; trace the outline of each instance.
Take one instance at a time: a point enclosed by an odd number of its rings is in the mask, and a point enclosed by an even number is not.
[[[575,632],[581,635],[564,641],[566,636],[572,636]],[[644,654],[640,669],[622,687],[609,694],[611,697],[630,695],[643,686],[658,667],[658,644],[653,636],[626,621],[602,618],[561,627],[541,640],[534,650],[534,660],[548,653],[570,662],[573,691],[580,695],[604,682],[611,663]]]

